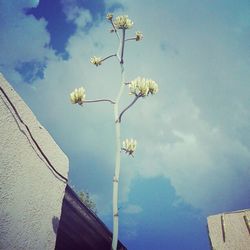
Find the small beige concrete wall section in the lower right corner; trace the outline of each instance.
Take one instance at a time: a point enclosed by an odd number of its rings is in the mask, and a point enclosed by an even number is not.
[[[208,230],[213,250],[248,250],[250,210],[209,216]]]

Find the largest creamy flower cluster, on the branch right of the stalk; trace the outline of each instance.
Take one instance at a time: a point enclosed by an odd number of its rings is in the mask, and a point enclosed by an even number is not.
[[[156,94],[159,90],[158,84],[151,79],[137,77],[129,83],[130,93],[136,96],[147,96]]]

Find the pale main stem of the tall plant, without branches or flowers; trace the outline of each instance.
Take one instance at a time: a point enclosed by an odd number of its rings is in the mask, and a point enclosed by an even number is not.
[[[115,153],[115,174],[113,178],[113,239],[112,239],[112,250],[117,250],[118,242],[118,186],[121,166],[121,123],[119,121],[119,102],[125,86],[125,72],[123,65],[123,52],[125,42],[125,30],[123,30],[123,36],[121,40],[121,86],[119,93],[116,97],[114,104],[114,118],[115,118],[115,141],[116,141],[116,153]]]

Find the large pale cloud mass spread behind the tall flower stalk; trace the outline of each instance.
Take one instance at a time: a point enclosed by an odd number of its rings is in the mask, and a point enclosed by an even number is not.
[[[162,175],[193,206],[210,212],[230,209],[250,192],[250,72],[241,9],[225,2],[223,8],[198,1],[196,8],[172,1],[120,2],[135,22],[134,31],[141,30],[145,36],[142,42],[126,44],[127,80],[142,75],[160,86],[159,94],[139,100],[124,115],[122,137],[137,139],[138,151],[134,159],[122,157],[122,200],[128,201],[136,176]],[[215,11],[220,8],[228,13]],[[115,59],[98,68],[89,59],[115,52],[117,40],[108,33],[106,20],[94,22],[88,11],[76,7],[65,12],[78,27],[67,44],[69,59],[50,58],[45,79],[37,80],[35,89],[22,94],[41,121],[56,131],[65,150],[82,155],[79,163],[84,163],[85,154],[102,159],[99,168],[107,174],[105,184],[98,190],[93,183],[93,189],[99,192],[98,202],[105,204],[112,191],[112,106],[80,108],[69,103],[68,94],[83,85],[89,99],[116,95],[120,76]],[[24,55],[17,46],[18,53],[10,57],[10,64],[26,57],[43,60],[49,53],[45,21],[22,18],[29,28],[19,28],[15,34],[21,38],[25,32],[38,36],[37,50],[34,47],[33,54]],[[84,27],[89,22],[94,25],[86,34]],[[123,106],[131,100],[126,91]],[[93,193],[91,187],[89,190]],[[100,193],[105,196],[103,201]]]

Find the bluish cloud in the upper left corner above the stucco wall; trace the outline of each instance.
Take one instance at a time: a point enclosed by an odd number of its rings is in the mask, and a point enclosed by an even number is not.
[[[22,63],[45,64],[46,60],[54,57],[53,50],[49,48],[50,35],[46,30],[46,21],[25,15],[25,9],[36,7],[38,3],[26,0],[2,1],[0,4],[0,69],[14,82],[20,81],[15,69]]]

